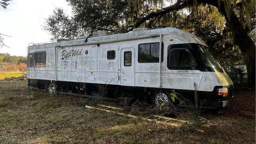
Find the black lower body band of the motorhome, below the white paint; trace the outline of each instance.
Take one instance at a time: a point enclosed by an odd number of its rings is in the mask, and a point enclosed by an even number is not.
[[[28,86],[38,88],[41,90],[48,90],[49,80],[40,79],[28,79]],[[173,90],[181,94],[184,98],[187,98],[194,102],[194,90],[177,90],[177,89],[162,89],[162,88],[146,88],[146,87],[134,87],[134,86],[119,86],[119,85],[107,85],[107,84],[92,84],[92,83],[79,83],[79,82],[67,82],[67,81],[54,81],[57,85],[58,92],[65,92],[79,95],[91,95],[91,96],[104,96],[106,98],[117,99],[118,97],[132,97],[139,101],[152,100],[159,91],[172,92]],[[228,86],[229,96],[218,96],[217,90],[222,86],[215,86],[212,92],[197,91],[200,102],[203,102],[203,106],[222,108],[229,105],[229,101],[233,96],[233,85]]]

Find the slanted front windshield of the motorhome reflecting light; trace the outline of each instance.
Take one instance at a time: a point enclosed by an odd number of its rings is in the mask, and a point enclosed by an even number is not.
[[[219,71],[223,72],[223,69],[217,59],[214,57],[212,52],[206,46],[202,46],[198,44],[198,52],[200,55],[201,60],[207,67],[218,69]]]

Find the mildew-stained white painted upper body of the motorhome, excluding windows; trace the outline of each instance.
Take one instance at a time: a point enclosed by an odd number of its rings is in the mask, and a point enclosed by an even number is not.
[[[164,42],[164,61],[161,65],[159,63],[138,63],[138,45],[159,42],[159,35],[162,35],[162,42]],[[167,46],[182,43],[206,45],[198,37],[175,28],[97,36],[88,38],[87,42],[85,38],[82,38],[33,45],[28,47],[28,53],[45,51],[46,65],[45,67],[28,67],[27,77],[29,79],[154,88],[159,88],[159,83],[161,83],[161,88],[184,90],[194,90],[193,83],[196,83],[200,91],[212,91],[214,86],[232,84],[226,73],[169,70],[167,68]],[[108,50],[115,50],[114,60],[107,60]],[[85,51],[88,51],[88,54],[85,54]],[[132,52],[131,67],[123,66],[125,51]]]

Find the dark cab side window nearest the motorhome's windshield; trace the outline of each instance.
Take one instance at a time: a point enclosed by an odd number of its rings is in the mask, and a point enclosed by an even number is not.
[[[196,61],[190,54],[189,50],[174,49],[169,51],[169,67],[171,68],[182,68],[190,69],[196,67]]]

